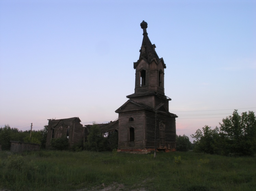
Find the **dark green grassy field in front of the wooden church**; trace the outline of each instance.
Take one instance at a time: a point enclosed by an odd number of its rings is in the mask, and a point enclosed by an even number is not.
[[[255,159],[194,152],[157,153],[154,159],[116,152],[1,151],[0,190],[253,191]]]

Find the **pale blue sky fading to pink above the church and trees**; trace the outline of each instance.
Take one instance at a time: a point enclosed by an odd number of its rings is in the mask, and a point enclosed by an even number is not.
[[[255,1],[0,1],[0,126],[105,123],[134,92],[143,31],[178,135],[256,111]]]

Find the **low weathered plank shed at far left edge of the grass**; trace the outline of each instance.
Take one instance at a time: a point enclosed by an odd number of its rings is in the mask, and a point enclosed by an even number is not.
[[[40,151],[40,144],[35,143],[24,143],[19,141],[10,141],[11,142],[11,152],[13,153],[22,153],[24,151]]]

